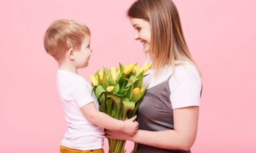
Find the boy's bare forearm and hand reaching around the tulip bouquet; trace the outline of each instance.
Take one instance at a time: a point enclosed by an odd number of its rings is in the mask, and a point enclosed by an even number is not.
[[[99,112],[96,109],[94,102],[88,103],[87,105],[80,107],[82,113],[85,115],[88,121],[97,126],[104,127],[105,129],[115,130],[115,131],[124,131],[127,134],[135,134],[138,130],[137,121],[133,122],[136,117],[132,117],[129,120],[121,121],[115,118]]]

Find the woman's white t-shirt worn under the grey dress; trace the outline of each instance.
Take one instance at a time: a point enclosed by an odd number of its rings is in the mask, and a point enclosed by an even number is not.
[[[147,62],[148,63],[148,62]],[[201,77],[196,67],[187,61],[176,61],[183,65],[177,66],[175,73],[171,66],[161,69],[158,78],[155,77],[155,70],[149,70],[149,75],[143,80],[143,86],[149,84],[148,89],[169,79],[169,95],[172,109],[188,106],[199,106],[201,97]],[[173,73],[173,74],[172,74]]]

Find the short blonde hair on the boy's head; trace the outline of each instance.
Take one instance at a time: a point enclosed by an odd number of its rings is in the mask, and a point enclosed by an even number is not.
[[[80,50],[90,30],[81,22],[59,19],[48,27],[44,35],[44,49],[61,63],[69,49]]]

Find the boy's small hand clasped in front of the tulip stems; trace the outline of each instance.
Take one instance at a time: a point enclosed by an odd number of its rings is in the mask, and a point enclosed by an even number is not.
[[[129,120],[124,121],[124,129],[123,131],[129,135],[135,135],[138,131],[138,122],[135,121],[137,116],[130,118]]]

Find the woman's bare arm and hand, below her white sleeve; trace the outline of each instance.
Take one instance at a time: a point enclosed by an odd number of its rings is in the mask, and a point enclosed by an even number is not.
[[[197,133],[199,107],[183,107],[173,110],[174,130],[143,131],[132,136],[123,132],[106,131],[108,138],[121,138],[165,149],[188,150],[194,143]]]

